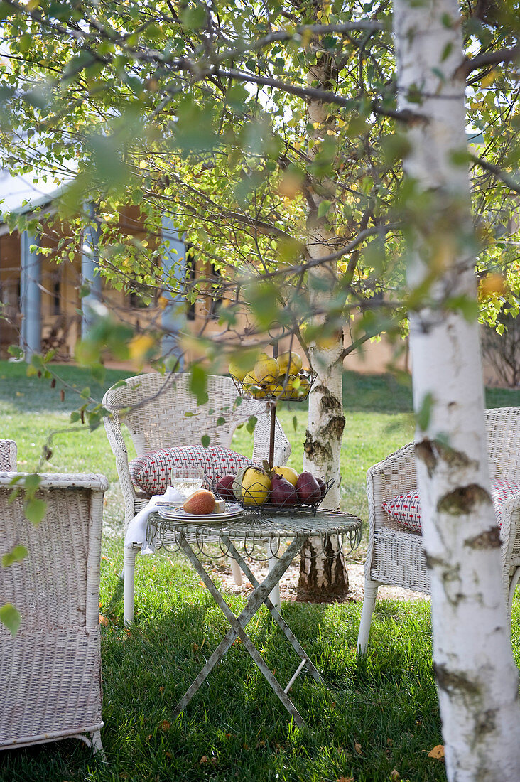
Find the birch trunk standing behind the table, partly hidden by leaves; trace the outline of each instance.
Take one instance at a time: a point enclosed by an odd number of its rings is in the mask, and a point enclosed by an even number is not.
[[[332,59],[322,53],[317,55],[316,66],[310,68],[309,84],[317,82],[322,88],[331,87]],[[310,101],[307,120],[314,126],[310,132],[309,156],[312,158],[319,148],[322,138],[332,127],[328,119],[330,107],[319,101]],[[325,194],[325,195],[324,195]],[[307,250],[311,258],[319,259],[330,255],[334,249],[334,231],[332,213],[318,217],[320,203],[327,199],[334,203],[335,188],[332,181],[321,183],[319,191],[307,196],[312,199],[313,208],[308,220],[309,239]],[[333,210],[332,206],[332,210]],[[317,311],[327,311],[332,291],[337,279],[335,263],[316,267],[309,273],[310,303]],[[325,316],[318,316],[318,323]],[[334,484],[325,497],[326,508],[339,508],[339,454],[341,451],[345,418],[342,407],[342,332],[332,339],[325,339],[310,345],[312,366],[317,371],[317,380],[309,395],[309,415],[305,443],[303,444],[303,469],[318,477],[334,480]],[[348,593],[349,579],[344,558],[339,551],[339,541],[332,536],[322,546],[319,540],[306,540],[300,554],[300,571],[297,600],[324,601],[334,597],[343,597]]]

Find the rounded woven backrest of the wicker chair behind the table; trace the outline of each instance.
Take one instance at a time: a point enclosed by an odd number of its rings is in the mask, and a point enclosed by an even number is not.
[[[210,375],[209,400],[200,405],[190,393],[188,382],[187,373],[151,372],[128,378],[124,386],[106,393],[104,406],[127,426],[137,454],[196,445],[203,435],[210,436],[211,445],[228,448],[240,421],[253,414],[268,420],[264,403],[242,400],[234,407],[238,393],[231,378]]]

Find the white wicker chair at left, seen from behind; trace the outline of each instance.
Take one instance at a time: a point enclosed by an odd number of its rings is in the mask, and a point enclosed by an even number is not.
[[[34,526],[13,472],[0,472],[0,556],[18,543],[29,554],[0,567],[0,602],[21,622],[0,625],[0,748],[76,737],[102,752],[99,563],[104,475],[41,475],[47,504]],[[88,738],[85,734],[90,734]]]

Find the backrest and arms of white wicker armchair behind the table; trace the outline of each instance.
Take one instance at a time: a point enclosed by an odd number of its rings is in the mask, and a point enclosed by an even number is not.
[[[149,497],[137,492],[132,484],[121,423],[127,426],[136,454],[140,455],[163,448],[200,445],[203,434],[210,436],[212,446],[229,448],[238,424],[256,415],[253,461],[261,462],[269,456],[270,415],[265,402],[244,399],[234,409],[238,393],[231,378],[210,375],[209,401],[197,405],[189,392],[188,381],[189,375],[181,372],[170,375],[150,372],[127,378],[124,385],[113,386],[103,397],[102,404],[111,413],[104,421],[123,490],[125,530]],[[219,423],[219,418],[226,419],[224,425]],[[290,453],[291,446],[277,420],[274,463],[285,465]]]

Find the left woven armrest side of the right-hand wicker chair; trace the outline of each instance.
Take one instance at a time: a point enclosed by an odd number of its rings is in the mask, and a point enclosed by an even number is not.
[[[417,489],[414,443],[408,443],[371,467],[367,472],[368,519],[370,531],[385,526],[389,515],[381,505],[398,494]]]

